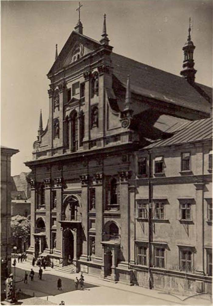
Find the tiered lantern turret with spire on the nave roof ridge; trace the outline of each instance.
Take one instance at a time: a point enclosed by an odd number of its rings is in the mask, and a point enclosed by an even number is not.
[[[189,27],[188,27],[188,38],[186,43],[183,46],[184,51],[184,61],[183,61],[183,70],[181,70],[181,76],[183,76],[189,84],[194,84],[195,74],[197,70],[194,69],[194,60],[193,53],[195,46],[191,40],[191,18],[189,18]]]

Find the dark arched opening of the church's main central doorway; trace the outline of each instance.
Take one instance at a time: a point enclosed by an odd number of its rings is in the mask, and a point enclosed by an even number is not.
[[[74,237],[70,229],[63,232],[63,265],[67,266],[72,264],[74,257]]]

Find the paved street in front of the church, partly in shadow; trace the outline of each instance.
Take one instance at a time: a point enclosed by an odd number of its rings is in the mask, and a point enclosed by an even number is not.
[[[19,282],[16,287],[27,295],[39,297],[45,301],[58,304],[63,300],[65,305],[77,304],[119,304],[119,305],[211,305],[211,300],[200,298],[200,296],[188,297],[181,301],[178,297],[170,294],[158,293],[139,286],[128,286],[124,284],[104,281],[84,273],[85,289],[75,290],[74,279],[80,274],[67,274],[57,271],[55,268],[43,269],[42,280],[38,278],[39,267],[32,267],[31,263],[18,263],[16,275],[23,278],[25,271],[35,271],[34,280],[28,280],[28,284]],[[14,267],[12,268],[12,272]],[[29,274],[29,273],[28,273]],[[62,280],[62,290],[57,289],[58,278]]]

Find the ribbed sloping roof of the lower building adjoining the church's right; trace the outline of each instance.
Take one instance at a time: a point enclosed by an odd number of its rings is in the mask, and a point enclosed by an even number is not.
[[[212,139],[212,118],[191,121],[184,124],[181,129],[180,126],[177,126],[177,132],[175,132],[174,127],[173,129],[171,127],[166,130],[166,132],[171,131],[173,132],[173,136],[167,139],[155,141],[143,149],[165,147],[175,144],[185,144]]]

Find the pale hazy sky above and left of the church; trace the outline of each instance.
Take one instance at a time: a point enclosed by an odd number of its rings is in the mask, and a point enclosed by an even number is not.
[[[192,18],[196,82],[212,86],[212,1],[81,1],[83,34],[100,40],[103,14],[113,52],[179,75]],[[1,1],[1,145],[19,149],[11,175],[30,169],[40,109],[49,115],[49,72],[78,20],[78,1]]]

